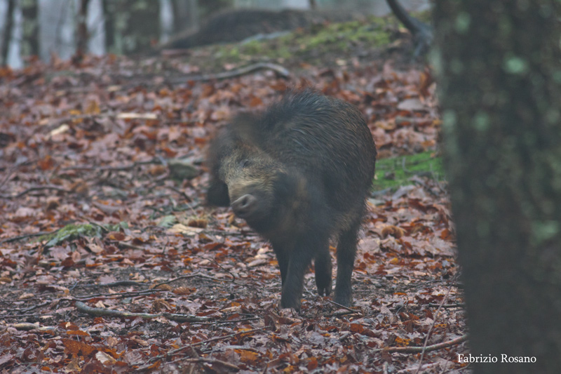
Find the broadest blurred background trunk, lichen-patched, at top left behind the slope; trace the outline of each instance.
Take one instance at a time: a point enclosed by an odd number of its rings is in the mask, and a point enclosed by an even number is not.
[[[160,38],[160,2],[104,0],[105,48],[111,53],[148,50]]]

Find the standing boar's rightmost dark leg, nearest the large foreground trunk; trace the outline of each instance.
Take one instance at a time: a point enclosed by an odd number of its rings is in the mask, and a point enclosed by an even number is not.
[[[337,283],[335,283],[335,302],[350,307],[353,304],[351,275],[356,255],[356,242],[360,222],[343,232],[337,244]]]

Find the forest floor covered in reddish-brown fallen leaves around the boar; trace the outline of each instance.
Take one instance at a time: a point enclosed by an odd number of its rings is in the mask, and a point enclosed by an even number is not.
[[[259,53],[276,40],[233,62],[216,54],[243,44],[1,70],[1,372],[467,372],[435,84],[393,25],[350,49],[325,26],[309,59]],[[284,37],[300,48],[320,32]],[[322,54],[330,40],[341,50]],[[255,62],[288,74],[198,75]],[[203,204],[203,160],[236,112],[306,85],[360,108],[379,161],[354,306],[318,296],[309,272],[297,314],[278,308],[269,243]]]

